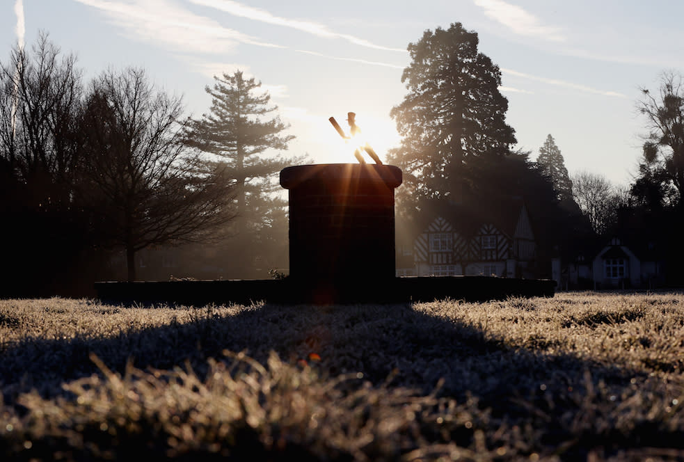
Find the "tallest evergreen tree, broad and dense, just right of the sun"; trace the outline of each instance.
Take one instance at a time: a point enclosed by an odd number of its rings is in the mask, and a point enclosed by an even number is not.
[[[404,198],[460,200],[468,159],[506,154],[516,143],[504,120],[501,72],[478,41],[455,23],[408,45],[411,64],[401,76],[408,94],[390,112],[403,139],[388,155],[404,170]]]

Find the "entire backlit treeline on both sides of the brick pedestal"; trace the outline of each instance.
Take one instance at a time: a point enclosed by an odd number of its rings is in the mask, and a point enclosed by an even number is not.
[[[514,151],[501,72],[459,23],[408,45],[404,100],[390,116],[404,172],[398,226],[430,207],[505,209],[524,200],[539,276],[612,237],[647,246],[681,285],[684,88],[664,74],[643,89],[644,155],[633,184],[568,175],[549,134],[536,161]],[[270,154],[292,136],[241,72],[215,77],[212,106],[185,118],[180,97],[141,69],[86,83],[45,35],[0,67],[2,296],[90,294],[98,279],[265,278],[287,267],[287,209],[273,182],[301,163]],[[172,253],[165,249],[187,244]],[[155,260],[156,259],[156,260]],[[150,272],[150,264],[163,271]],[[152,275],[152,276],[150,276]]]

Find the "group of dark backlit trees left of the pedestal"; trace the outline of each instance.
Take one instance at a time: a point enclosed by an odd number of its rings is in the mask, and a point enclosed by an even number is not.
[[[278,253],[269,230],[283,229],[285,210],[268,177],[285,162],[258,154],[287,148],[290,137],[278,136],[287,126],[253,120],[276,109],[253,95],[254,79],[217,81],[211,113],[191,120],[144,70],[86,83],[47,35],[13,49],[0,67],[0,296],[89,295],[95,280],[138,278],[141,255],[160,246],[189,244],[185,255],[205,267],[248,266],[231,252],[259,244]]]

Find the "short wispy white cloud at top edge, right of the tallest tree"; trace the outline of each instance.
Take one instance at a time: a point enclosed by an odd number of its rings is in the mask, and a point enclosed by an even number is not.
[[[485,15],[507,26],[518,35],[546,38],[558,42],[566,40],[561,29],[541,24],[536,16],[520,6],[503,0],[475,0],[475,5],[484,8]]]

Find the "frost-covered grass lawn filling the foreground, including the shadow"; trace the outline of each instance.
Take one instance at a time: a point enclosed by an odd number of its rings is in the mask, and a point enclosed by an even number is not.
[[[0,301],[0,459],[684,460],[684,296]]]

